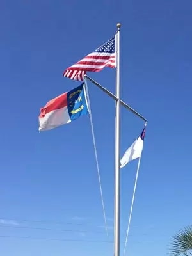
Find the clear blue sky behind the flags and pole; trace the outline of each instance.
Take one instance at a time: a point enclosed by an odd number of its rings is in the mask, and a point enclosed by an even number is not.
[[[191,224],[191,0],[8,0],[0,12],[0,254],[113,255],[113,243],[86,242],[106,241],[88,116],[39,134],[38,115],[80,84],[63,70],[122,22],[122,99],[148,119],[127,255],[165,255],[170,237]],[[90,76],[115,91],[115,70]],[[113,240],[115,104],[88,86]],[[121,154],[142,129],[122,109]],[[121,173],[121,252],[136,163]]]

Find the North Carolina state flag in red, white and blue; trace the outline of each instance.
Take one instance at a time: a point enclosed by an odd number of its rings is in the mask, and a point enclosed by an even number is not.
[[[54,129],[68,124],[89,113],[84,83],[47,102],[40,109],[39,131]]]

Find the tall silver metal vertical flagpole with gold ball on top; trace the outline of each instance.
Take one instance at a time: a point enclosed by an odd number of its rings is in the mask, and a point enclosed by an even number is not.
[[[116,116],[115,116],[115,202],[114,256],[120,255],[120,27],[116,24]]]

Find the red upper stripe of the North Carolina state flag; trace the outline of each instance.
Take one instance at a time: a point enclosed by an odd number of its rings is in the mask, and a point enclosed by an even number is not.
[[[40,109],[39,117],[44,117],[47,113],[64,108],[65,106],[67,106],[67,92],[55,97],[52,100],[49,100],[49,102],[47,102],[47,104]]]

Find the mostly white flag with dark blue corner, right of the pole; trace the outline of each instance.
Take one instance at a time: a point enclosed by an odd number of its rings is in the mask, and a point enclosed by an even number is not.
[[[141,156],[141,153],[143,151],[144,138],[145,138],[145,128],[141,132],[141,135],[125,151],[124,156],[120,160],[120,168],[123,168],[127,163]]]

